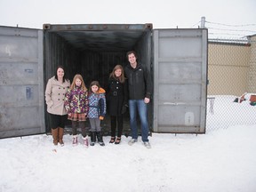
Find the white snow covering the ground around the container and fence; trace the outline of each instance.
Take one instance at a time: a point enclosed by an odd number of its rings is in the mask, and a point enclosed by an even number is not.
[[[227,119],[227,106],[244,114]],[[46,134],[0,140],[0,192],[255,192],[256,123],[245,121],[255,109],[216,98],[206,134],[153,133],[151,149],[124,136],[120,145],[104,137],[105,147],[89,148],[72,147],[70,135],[57,148]]]

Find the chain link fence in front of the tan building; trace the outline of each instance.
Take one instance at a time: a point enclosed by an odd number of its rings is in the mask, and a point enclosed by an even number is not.
[[[206,131],[255,124],[256,36],[208,40]],[[256,96],[255,96],[256,97]]]

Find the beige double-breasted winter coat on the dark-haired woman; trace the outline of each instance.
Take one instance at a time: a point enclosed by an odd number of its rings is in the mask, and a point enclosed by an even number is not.
[[[67,114],[64,108],[64,98],[69,86],[69,81],[60,83],[54,76],[48,80],[45,89],[45,101],[48,113],[60,116]]]

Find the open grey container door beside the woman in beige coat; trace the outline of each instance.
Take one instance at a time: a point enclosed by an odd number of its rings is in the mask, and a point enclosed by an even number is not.
[[[43,31],[0,27],[0,138],[45,132]]]

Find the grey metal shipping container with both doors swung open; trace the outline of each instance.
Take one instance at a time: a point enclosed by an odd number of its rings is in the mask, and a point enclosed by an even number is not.
[[[153,29],[150,23],[0,27],[0,138],[51,130],[44,91],[57,66],[70,81],[79,73],[87,87],[98,80],[106,89],[109,73],[116,64],[128,64],[131,50],[154,84],[150,131],[204,133],[207,33],[205,28]],[[108,115],[101,125],[110,132]],[[129,127],[126,113],[124,133]]]

